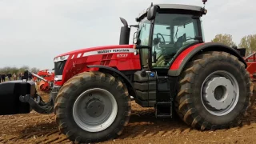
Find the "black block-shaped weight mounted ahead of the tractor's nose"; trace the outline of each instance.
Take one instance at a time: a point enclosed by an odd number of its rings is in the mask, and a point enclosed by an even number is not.
[[[28,114],[30,104],[19,100],[21,95],[36,93],[34,82],[11,81],[0,83],[0,115]]]

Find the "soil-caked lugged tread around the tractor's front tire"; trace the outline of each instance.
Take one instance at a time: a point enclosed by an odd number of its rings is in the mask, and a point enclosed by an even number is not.
[[[120,97],[126,99],[126,111],[124,113],[124,118],[122,122],[118,125],[118,128],[114,130],[114,133],[106,136],[106,138],[99,138],[96,141],[101,142],[110,138],[115,138],[118,135],[122,134],[124,126],[126,126],[130,120],[131,108],[130,108],[130,95],[128,93],[128,89],[124,83],[122,83],[118,78],[114,78],[111,74],[104,74],[99,71],[90,71],[83,72],[75,75],[73,78],[70,78],[59,90],[58,96],[56,97],[56,103],[54,105],[54,114],[56,114],[56,122],[58,123],[58,128],[62,132],[62,134],[66,134],[67,138],[70,138],[71,141],[75,143],[80,142],[92,142],[90,138],[82,138],[82,135],[72,131],[72,128],[66,124],[66,102],[69,102],[69,98],[72,97],[70,95],[71,90],[75,90],[78,86],[82,85],[84,82],[91,81],[100,81],[107,82],[110,86],[116,86],[116,89],[122,91],[122,95]]]

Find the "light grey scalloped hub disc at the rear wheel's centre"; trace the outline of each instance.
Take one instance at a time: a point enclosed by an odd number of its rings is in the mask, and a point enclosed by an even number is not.
[[[206,83],[203,98],[214,110],[226,109],[234,99],[234,86],[225,77],[216,77]]]

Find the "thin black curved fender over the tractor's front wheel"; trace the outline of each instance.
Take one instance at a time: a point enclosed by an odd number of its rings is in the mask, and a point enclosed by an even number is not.
[[[123,79],[123,81],[126,83],[126,87],[129,91],[129,94],[131,96],[133,96],[134,98],[136,97],[136,92],[135,92],[135,89],[134,89],[134,86],[133,84],[130,82],[129,78],[126,77],[125,74],[122,74],[122,72],[120,72],[119,70],[116,70],[114,69],[113,67],[110,67],[110,66],[102,66],[102,65],[90,65],[90,66],[87,66],[88,68],[98,68],[99,71],[100,70],[109,70],[115,74],[118,74],[118,76],[120,78]]]

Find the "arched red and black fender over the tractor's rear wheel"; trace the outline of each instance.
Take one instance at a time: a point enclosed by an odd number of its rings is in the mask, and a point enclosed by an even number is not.
[[[238,59],[243,62],[247,67],[246,61],[242,58],[237,50],[234,50],[229,46],[223,45],[222,43],[208,42],[190,46],[186,50],[183,50],[180,54],[178,54],[178,56],[174,59],[174,62],[172,62],[170,70],[168,70],[168,75],[179,76],[182,73],[182,70],[184,69],[186,64],[190,62],[190,60],[196,54],[205,51],[224,51],[229,54],[233,54],[234,56],[238,57]]]

